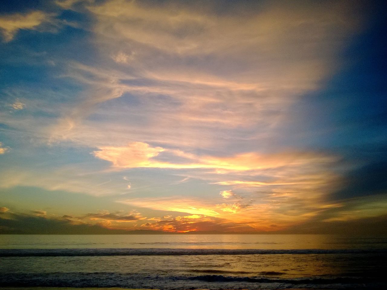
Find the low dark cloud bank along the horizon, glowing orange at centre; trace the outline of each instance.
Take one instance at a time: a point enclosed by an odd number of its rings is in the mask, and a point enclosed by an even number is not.
[[[2,210],[4,207],[0,207]],[[6,208],[7,209],[7,208]],[[205,215],[179,215],[174,218],[166,216],[163,218],[149,218],[148,220],[136,220],[138,226],[128,221],[115,223],[119,216],[126,216],[124,212],[91,213],[90,217],[106,215],[109,220],[89,219],[86,216],[74,217],[72,215],[36,215],[5,210],[0,215],[1,234],[130,234],[130,230],[148,229],[167,232],[187,231],[209,231],[209,232],[257,232],[255,226],[241,223],[236,220],[221,217],[210,217]],[[83,220],[82,220],[83,218]],[[320,222],[312,218],[307,222],[286,228],[275,224],[268,225],[266,230],[278,233],[302,233],[302,234],[326,234],[326,233],[348,233],[353,234],[383,234],[386,230],[386,215],[364,217],[349,221]],[[119,218],[118,218],[119,219]],[[101,221],[101,222],[98,222]],[[120,227],[121,225],[121,227]]]

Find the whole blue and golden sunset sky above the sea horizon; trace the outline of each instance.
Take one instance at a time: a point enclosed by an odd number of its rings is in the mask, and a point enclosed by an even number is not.
[[[0,233],[386,233],[385,19],[2,2]]]

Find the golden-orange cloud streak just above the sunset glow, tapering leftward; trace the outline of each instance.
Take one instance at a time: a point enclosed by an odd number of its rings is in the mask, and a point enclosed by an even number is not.
[[[173,215],[172,212],[186,213],[206,217],[220,218],[224,221],[248,226],[256,231],[273,231],[291,228],[304,223],[337,205],[327,205],[318,196],[310,194],[306,199],[295,192],[255,194],[259,200],[250,199],[245,203],[222,203],[219,197],[193,198],[168,196],[159,198],[133,198],[118,200],[130,206],[164,211],[162,215]],[[277,227],[272,227],[276,224]]]

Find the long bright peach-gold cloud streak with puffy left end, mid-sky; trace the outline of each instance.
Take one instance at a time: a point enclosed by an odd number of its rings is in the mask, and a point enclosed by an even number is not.
[[[170,152],[175,157],[184,157],[185,162],[172,163],[158,161],[160,152]],[[286,152],[263,155],[256,152],[237,154],[231,157],[197,156],[180,150],[167,150],[162,147],[150,147],[144,142],[129,143],[126,147],[100,147],[92,154],[100,159],[110,161],[119,168],[170,168],[170,169],[216,169],[223,171],[251,171],[307,164],[327,164],[337,158],[313,152]]]

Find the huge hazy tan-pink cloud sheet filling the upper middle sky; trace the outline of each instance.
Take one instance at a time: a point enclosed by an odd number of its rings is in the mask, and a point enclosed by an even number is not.
[[[229,140],[272,140],[289,107],[336,69],[359,22],[341,3],[250,3],[223,14],[218,3],[84,5],[101,57],[68,66],[68,77],[85,85],[82,101],[49,130],[53,141],[91,147],[106,146],[106,135],[115,146],[126,136],[212,149]],[[101,108],[119,98],[132,101]],[[85,121],[97,107],[116,121]]]

